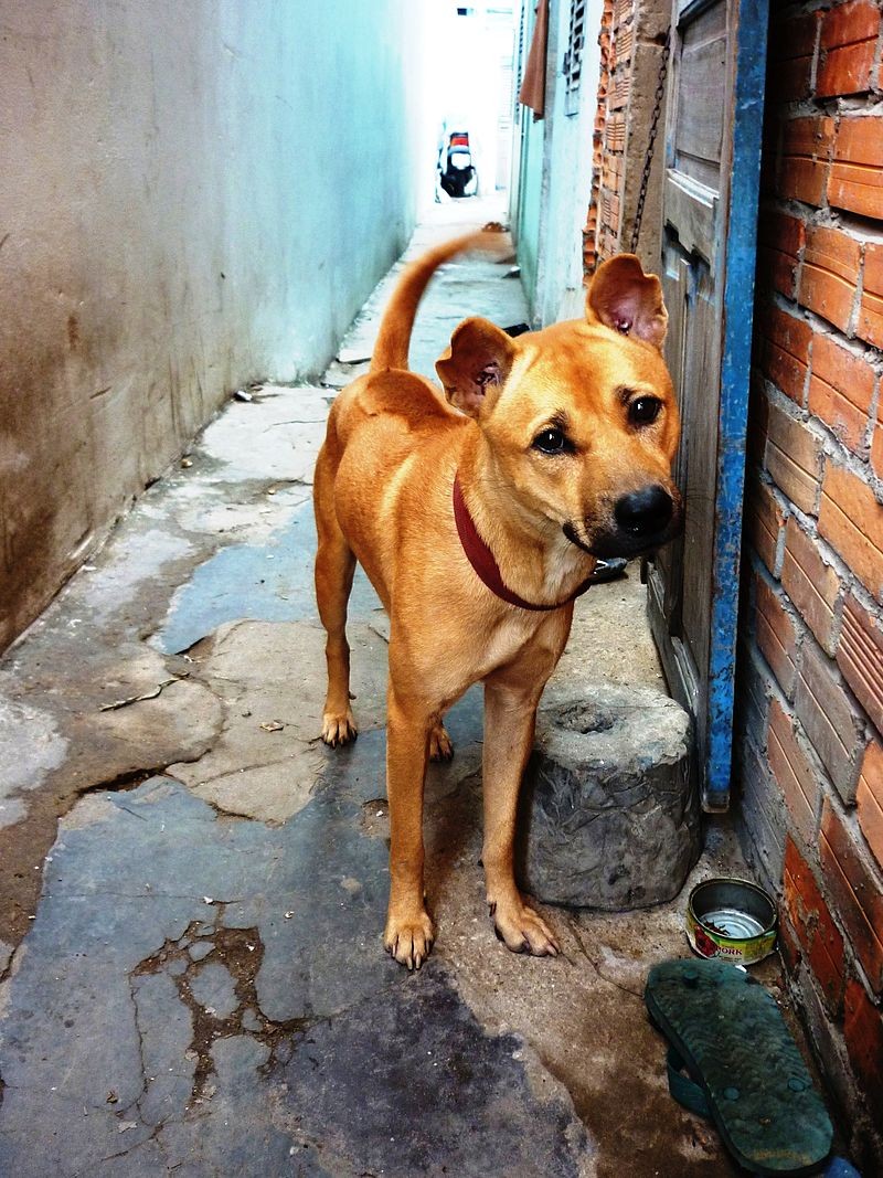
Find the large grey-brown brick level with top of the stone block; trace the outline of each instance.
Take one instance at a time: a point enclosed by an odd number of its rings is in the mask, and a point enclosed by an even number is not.
[[[854,802],[868,743],[865,719],[852,703],[837,664],[812,641],[801,650],[795,712],[841,798]]]

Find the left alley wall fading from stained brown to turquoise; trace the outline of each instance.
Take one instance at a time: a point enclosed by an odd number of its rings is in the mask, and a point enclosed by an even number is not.
[[[0,648],[400,252],[420,9],[0,0]]]

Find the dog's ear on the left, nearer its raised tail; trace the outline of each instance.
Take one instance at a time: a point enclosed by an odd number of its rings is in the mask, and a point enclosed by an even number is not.
[[[484,416],[494,404],[512,368],[517,345],[487,319],[464,319],[436,371],[451,404],[469,417]]]

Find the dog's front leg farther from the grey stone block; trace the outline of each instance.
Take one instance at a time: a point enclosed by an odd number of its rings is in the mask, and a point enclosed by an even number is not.
[[[433,710],[401,702],[390,684],[386,794],[390,801],[390,907],[384,944],[400,965],[419,969],[432,947],[423,894],[423,790]]]

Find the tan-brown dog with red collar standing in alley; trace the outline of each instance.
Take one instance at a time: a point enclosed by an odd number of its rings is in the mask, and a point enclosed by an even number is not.
[[[433,271],[493,241],[451,241],[405,272],[371,371],[334,402],[316,466],[327,744],[357,732],[345,635],[357,560],[390,615],[385,945],[409,968],[419,968],[433,937],[423,889],[426,762],[451,755],[442,716],[478,681],[487,902],[509,948],[557,953],[512,869],[537,703],[595,558],[656,548],[679,517],[678,412],[660,356],[668,313],[658,278],[632,254],[598,269],[584,320],[517,339],[486,319],[462,323],[436,364],[453,408],[409,372]]]

